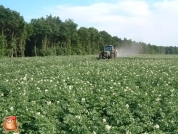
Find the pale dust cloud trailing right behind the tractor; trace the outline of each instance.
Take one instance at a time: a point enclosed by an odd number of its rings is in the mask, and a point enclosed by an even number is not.
[[[121,46],[117,49],[117,57],[135,56],[140,54],[142,47],[139,45]]]

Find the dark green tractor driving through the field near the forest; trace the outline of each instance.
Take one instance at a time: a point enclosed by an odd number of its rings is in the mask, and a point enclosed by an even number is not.
[[[104,50],[99,54],[99,59],[111,59],[117,57],[117,49],[113,45],[105,45]]]

